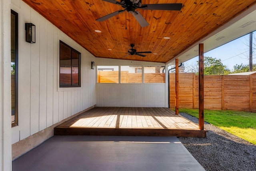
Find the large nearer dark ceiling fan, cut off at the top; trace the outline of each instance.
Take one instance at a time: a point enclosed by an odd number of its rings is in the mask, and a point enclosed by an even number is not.
[[[148,26],[148,22],[145,18],[140,14],[140,12],[135,11],[137,8],[142,10],[176,10],[179,11],[182,8],[182,4],[141,4],[141,0],[121,0],[121,2],[115,0],[103,0],[106,2],[110,2],[112,4],[120,5],[124,8],[124,10],[118,10],[102,18],[97,19],[96,21],[104,21],[108,18],[111,18],[117,14],[124,12],[125,10],[131,13],[135,19],[139,22],[140,26],[146,27]]]

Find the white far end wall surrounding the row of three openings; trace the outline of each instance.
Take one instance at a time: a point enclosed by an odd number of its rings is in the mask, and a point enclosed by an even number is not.
[[[165,65],[155,62],[96,58],[95,65]],[[96,82],[97,80],[95,80]],[[97,106],[168,107],[166,84],[97,83]],[[166,105],[167,104],[167,105]]]

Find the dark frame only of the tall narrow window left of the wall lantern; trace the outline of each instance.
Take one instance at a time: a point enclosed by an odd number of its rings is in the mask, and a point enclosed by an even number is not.
[[[15,22],[15,112],[14,112],[14,122],[12,122],[12,127],[18,126],[18,13],[11,9],[11,15],[14,15]]]

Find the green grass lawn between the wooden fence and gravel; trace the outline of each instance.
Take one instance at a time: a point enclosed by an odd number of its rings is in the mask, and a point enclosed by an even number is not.
[[[198,118],[198,109],[179,109]],[[204,121],[256,145],[256,113],[204,109]]]

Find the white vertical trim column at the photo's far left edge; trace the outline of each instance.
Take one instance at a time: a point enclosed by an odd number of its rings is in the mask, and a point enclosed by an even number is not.
[[[0,3],[0,171],[12,170],[10,2]]]

